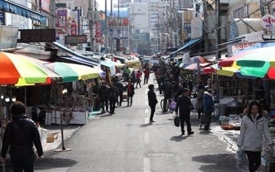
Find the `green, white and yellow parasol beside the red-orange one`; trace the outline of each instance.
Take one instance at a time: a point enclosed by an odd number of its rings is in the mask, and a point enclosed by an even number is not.
[[[77,65],[73,63],[54,62],[47,63],[45,66],[52,69],[58,75],[62,76],[62,82],[72,82],[76,80],[87,80],[90,78],[98,78],[100,71],[93,67],[85,65]]]

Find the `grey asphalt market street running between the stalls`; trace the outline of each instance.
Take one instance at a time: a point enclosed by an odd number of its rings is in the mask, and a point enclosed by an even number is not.
[[[146,87],[135,89],[133,106],[124,102],[112,116],[96,116],[78,129],[65,141],[72,151],[45,153],[35,171],[238,171],[230,144],[200,131],[196,113],[191,115],[193,136],[181,136],[173,114],[162,113],[159,104],[155,122],[148,123]],[[156,94],[160,102],[163,97]]]

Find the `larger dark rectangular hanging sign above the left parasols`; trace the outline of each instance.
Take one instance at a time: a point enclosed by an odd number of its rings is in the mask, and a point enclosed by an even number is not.
[[[56,41],[55,29],[19,30],[19,43],[39,43]]]

